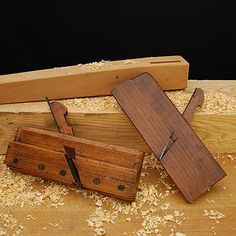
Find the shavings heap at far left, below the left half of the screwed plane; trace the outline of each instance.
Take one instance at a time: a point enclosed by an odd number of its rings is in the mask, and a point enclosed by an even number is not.
[[[44,205],[58,207],[64,205],[62,196],[68,194],[69,188],[54,182],[43,181],[30,175],[13,172],[3,163],[0,155],[0,205],[2,207]],[[37,190],[33,184],[41,185]]]

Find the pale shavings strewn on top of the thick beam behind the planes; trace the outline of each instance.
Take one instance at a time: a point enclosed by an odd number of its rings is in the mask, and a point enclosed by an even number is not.
[[[192,96],[192,93],[186,91],[167,92],[166,94],[181,112]],[[70,108],[84,112],[114,112],[121,110],[112,96],[75,98],[63,100],[62,102],[69,110]],[[236,99],[224,93],[207,91],[205,92],[205,101],[200,111],[208,113],[236,112]]]

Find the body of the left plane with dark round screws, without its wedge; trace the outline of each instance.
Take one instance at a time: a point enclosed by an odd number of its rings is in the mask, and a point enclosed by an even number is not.
[[[75,185],[63,145],[75,148],[81,184],[127,201],[134,201],[143,153],[100,142],[23,127],[10,142],[5,164],[17,171]]]

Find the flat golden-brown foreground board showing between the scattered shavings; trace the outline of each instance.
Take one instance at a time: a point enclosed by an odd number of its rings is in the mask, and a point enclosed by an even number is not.
[[[230,155],[230,158],[227,155],[220,154],[217,157],[217,161],[226,171],[227,177],[217,183],[209,192],[206,192],[193,204],[187,203],[180,192],[170,193],[168,196],[164,196],[163,199],[156,197],[156,206],[146,203],[137,211],[137,214],[126,215],[124,213],[115,213],[114,215],[117,215],[117,219],[115,219],[114,224],[103,223],[106,235],[136,235],[136,232],[143,228],[141,223],[145,217],[142,216],[142,212],[148,209],[153,209],[153,214],[160,217],[174,215],[173,220],[167,220],[167,223],[158,226],[158,221],[156,222],[156,228],[160,230],[160,235],[171,235],[172,230],[173,235],[176,235],[177,232],[186,235],[235,235],[236,154]],[[234,158],[235,160],[231,160]],[[172,181],[169,177],[161,179],[161,172],[163,171],[148,168],[143,173],[150,175],[142,176],[142,181],[145,184],[158,184],[155,189],[158,193],[165,194],[165,191],[168,191],[168,186],[172,186]],[[164,184],[161,180],[164,181]],[[34,188],[40,189],[44,188],[44,186],[37,182]],[[175,191],[176,188],[172,187],[170,191],[172,190]],[[96,198],[90,199],[85,197],[82,193],[76,193],[73,190],[69,191],[62,198],[65,205],[58,206],[57,208],[46,207],[43,204],[40,206],[25,204],[24,207],[1,207],[1,212],[11,214],[18,221],[18,225],[24,226],[20,235],[94,235],[94,230],[88,226],[87,220],[90,218],[91,212],[99,208],[99,206],[95,205],[99,201]],[[112,201],[114,200],[110,199],[108,201],[103,199],[103,206],[101,208],[109,212],[116,212],[112,208]],[[215,219],[210,219],[210,215],[204,216],[205,210],[208,212],[213,210],[212,217]],[[180,216],[176,217],[174,211],[179,211]],[[147,214],[146,216],[148,217],[149,215]],[[175,220],[178,220],[180,225]],[[3,223],[0,223],[0,227],[3,227]],[[8,230],[8,232],[11,231]]]

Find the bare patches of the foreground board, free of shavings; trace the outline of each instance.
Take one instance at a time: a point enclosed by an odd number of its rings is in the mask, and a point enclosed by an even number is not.
[[[236,153],[232,155],[236,158]],[[181,194],[178,192],[162,203],[170,203],[170,208],[165,213],[173,213],[178,210],[184,213],[186,220],[181,225],[176,225],[174,232],[182,232],[186,235],[193,236],[212,236],[213,231],[218,236],[232,236],[236,234],[236,160],[219,159],[219,163],[227,172],[227,176],[215,185],[210,192],[206,192],[193,204],[188,204],[184,201]],[[150,176],[143,177],[145,182],[155,184],[159,180],[155,170],[148,171]],[[166,181],[167,182],[167,181]],[[168,181],[171,183],[171,180]],[[158,185],[160,188],[163,186]],[[160,190],[161,191],[161,190]],[[209,202],[212,201],[212,202]],[[213,202],[214,201],[214,202]],[[94,200],[85,198],[80,194],[70,193],[65,196],[65,205],[58,208],[46,208],[44,206],[24,206],[1,208],[1,212],[12,214],[19,224],[22,224],[25,229],[20,235],[52,235],[52,236],[94,236],[94,231],[88,227],[86,220],[89,219],[89,214],[95,209]],[[159,207],[159,206],[158,206]],[[107,210],[112,210],[111,206],[105,207]],[[149,209],[145,206],[143,210]],[[204,210],[216,210],[225,215],[219,219],[219,223],[215,220],[203,216]],[[35,220],[27,220],[27,215],[32,215]],[[158,214],[163,215],[163,211],[159,210]],[[125,215],[124,218],[130,217],[131,221],[123,221],[122,218],[116,220],[116,224],[104,224],[108,236],[120,235],[136,235],[133,232],[138,231],[142,220],[139,216]],[[53,226],[57,225],[57,226]],[[171,224],[171,222],[170,222]],[[173,225],[173,224],[172,224]],[[213,227],[213,228],[211,228]],[[168,226],[158,227],[162,230],[161,235],[170,235],[171,231]],[[124,234],[127,233],[127,234]],[[156,234],[150,234],[156,235]],[[175,235],[175,234],[174,234]]]

